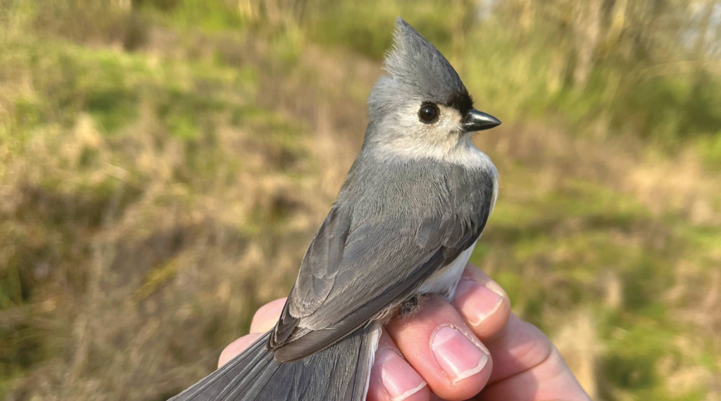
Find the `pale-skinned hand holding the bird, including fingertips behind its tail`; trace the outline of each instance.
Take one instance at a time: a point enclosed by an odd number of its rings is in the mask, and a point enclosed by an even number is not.
[[[285,302],[260,307],[218,367],[275,327]],[[477,267],[466,265],[453,302],[433,295],[420,305],[384,327],[368,401],[590,401],[549,338],[513,315],[508,295]]]

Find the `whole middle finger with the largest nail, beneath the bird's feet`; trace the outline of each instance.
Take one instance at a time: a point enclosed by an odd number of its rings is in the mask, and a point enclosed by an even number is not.
[[[487,349],[443,297],[424,299],[414,317],[396,318],[386,329],[431,391],[444,400],[473,397],[490,377]]]

